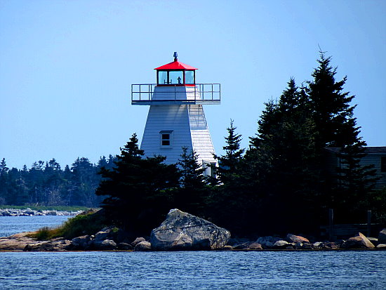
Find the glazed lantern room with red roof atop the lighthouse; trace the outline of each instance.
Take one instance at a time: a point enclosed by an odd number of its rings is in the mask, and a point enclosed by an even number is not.
[[[162,65],[157,70],[157,86],[194,86],[196,84],[196,67],[179,62],[177,53],[174,61]]]

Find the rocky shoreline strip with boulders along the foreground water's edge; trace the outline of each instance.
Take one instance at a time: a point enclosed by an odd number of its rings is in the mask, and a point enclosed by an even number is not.
[[[386,250],[386,228],[378,238],[355,237],[338,242],[312,242],[306,237],[288,234],[286,237],[257,237],[231,239],[230,232],[189,213],[173,209],[166,220],[152,230],[150,237],[133,239],[128,232],[116,227],[103,228],[95,235],[72,240],[57,238],[37,241],[23,232],[0,237],[0,251],[329,251],[329,250]]]

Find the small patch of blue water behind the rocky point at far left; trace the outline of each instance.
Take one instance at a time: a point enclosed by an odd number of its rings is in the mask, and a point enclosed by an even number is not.
[[[61,225],[71,216],[0,216],[0,237]],[[1,288],[0,288],[1,290]]]

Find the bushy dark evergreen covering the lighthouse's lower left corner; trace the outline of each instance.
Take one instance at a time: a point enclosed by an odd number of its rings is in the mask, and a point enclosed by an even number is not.
[[[148,234],[161,223],[170,209],[173,190],[178,187],[175,165],[166,165],[166,157],[143,158],[133,134],[121,148],[113,169],[101,169],[102,182],[97,195],[107,216],[127,230]]]

